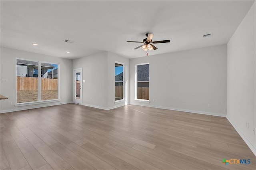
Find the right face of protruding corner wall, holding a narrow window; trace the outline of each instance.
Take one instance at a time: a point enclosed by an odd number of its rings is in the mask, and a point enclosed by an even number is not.
[[[115,62],[124,63],[124,99],[125,101],[115,103]],[[128,104],[129,101],[129,59],[108,52],[108,109]]]

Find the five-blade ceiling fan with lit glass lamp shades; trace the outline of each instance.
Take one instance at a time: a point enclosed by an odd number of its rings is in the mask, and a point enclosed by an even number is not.
[[[170,42],[170,40],[162,40],[162,41],[155,41],[155,42],[153,42],[152,41],[153,36],[154,36],[154,34],[147,33],[146,34],[147,38],[145,38],[143,40],[143,42],[136,42],[136,43],[144,43],[144,44],[142,44],[142,45],[140,45],[140,46],[138,46],[138,47],[136,47],[134,49],[138,49],[138,48],[141,47],[144,51],[148,51],[148,49],[149,50],[152,50],[152,49],[156,50],[157,47],[154,46],[152,43],[167,43],[167,42]],[[127,41],[127,42],[134,42],[134,41]]]

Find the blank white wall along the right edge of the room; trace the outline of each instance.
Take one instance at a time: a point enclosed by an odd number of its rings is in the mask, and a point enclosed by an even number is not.
[[[228,42],[227,118],[256,155],[255,20],[254,2]]]

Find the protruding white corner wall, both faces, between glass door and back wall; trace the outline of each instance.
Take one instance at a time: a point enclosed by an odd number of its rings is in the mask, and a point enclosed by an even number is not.
[[[112,109],[124,105],[115,104],[115,61],[124,63],[125,82],[129,79],[129,59],[110,52],[102,52],[73,60],[73,68],[82,68],[82,105],[100,109]],[[92,99],[92,101],[91,101]],[[126,88],[128,101],[128,85]]]

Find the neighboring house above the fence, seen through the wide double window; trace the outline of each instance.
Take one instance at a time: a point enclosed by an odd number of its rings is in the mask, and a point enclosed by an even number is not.
[[[41,77],[47,78],[48,69],[56,68],[49,63],[41,63]],[[17,76],[38,77],[38,63],[36,61],[27,61],[17,59]]]

